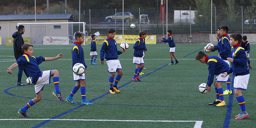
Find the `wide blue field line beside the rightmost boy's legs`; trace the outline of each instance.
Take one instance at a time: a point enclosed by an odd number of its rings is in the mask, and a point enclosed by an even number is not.
[[[229,95],[229,104],[227,105],[227,112],[225,121],[223,124],[223,128],[229,128],[230,118],[231,118],[231,112],[232,112],[232,105],[233,105],[233,96],[234,96],[234,78],[235,76],[232,76],[232,82],[230,85],[230,89],[232,90],[232,94]]]

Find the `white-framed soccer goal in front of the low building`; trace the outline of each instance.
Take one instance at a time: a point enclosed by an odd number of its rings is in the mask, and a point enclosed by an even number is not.
[[[85,22],[24,22],[18,23],[18,26],[25,26],[26,32],[24,36],[31,38],[31,44],[43,45],[45,37],[59,42],[63,40],[66,41],[68,38],[68,43],[74,42],[73,35],[76,31],[80,31],[80,24],[82,24],[83,33],[86,35],[87,33],[85,31]],[[52,39],[52,37],[56,39]],[[83,45],[85,45],[85,42],[83,42]]]

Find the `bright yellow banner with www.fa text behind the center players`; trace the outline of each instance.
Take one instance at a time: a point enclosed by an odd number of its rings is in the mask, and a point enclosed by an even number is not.
[[[121,44],[121,42],[127,42],[128,44],[135,44],[135,42],[139,39],[139,35],[115,35],[114,39],[117,44]],[[157,44],[157,35],[147,35],[145,38],[146,44]]]

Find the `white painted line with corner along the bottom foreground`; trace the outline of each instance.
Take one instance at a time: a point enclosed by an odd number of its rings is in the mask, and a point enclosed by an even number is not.
[[[124,122],[196,122],[194,128],[201,128],[203,121],[183,121],[183,120],[86,120],[86,119],[0,119],[0,120],[64,120],[64,121],[124,121]]]

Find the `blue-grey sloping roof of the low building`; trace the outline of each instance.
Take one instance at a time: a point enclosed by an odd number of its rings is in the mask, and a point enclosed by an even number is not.
[[[37,20],[70,19],[72,14],[37,14]],[[0,20],[35,20],[35,15],[0,15]]]

